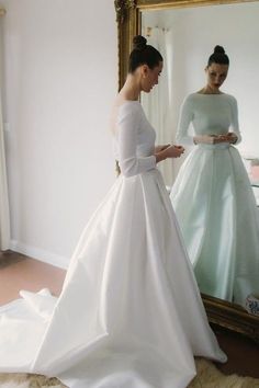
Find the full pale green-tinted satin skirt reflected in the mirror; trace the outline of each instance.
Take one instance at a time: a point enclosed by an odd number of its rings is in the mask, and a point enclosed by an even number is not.
[[[200,290],[245,306],[259,293],[259,220],[237,149],[196,146],[170,197]]]

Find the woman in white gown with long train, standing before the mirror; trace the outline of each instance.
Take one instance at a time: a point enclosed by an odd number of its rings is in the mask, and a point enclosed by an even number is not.
[[[121,175],[79,240],[58,299],[22,292],[1,309],[0,369],[56,376],[70,388],[185,388],[193,355],[225,362],[206,319],[138,102],[162,58],[137,36],[113,111]]]

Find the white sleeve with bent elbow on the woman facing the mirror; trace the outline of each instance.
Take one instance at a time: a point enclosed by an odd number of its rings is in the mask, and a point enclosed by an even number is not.
[[[137,175],[156,168],[156,157],[137,157],[137,133],[140,123],[138,105],[123,104],[119,111],[119,164],[124,176]]]

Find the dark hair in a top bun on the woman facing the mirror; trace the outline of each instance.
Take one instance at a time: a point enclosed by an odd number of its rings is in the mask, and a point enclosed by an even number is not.
[[[154,69],[161,60],[161,54],[155,47],[147,45],[147,39],[144,36],[134,36],[133,50],[128,59],[128,72],[133,73],[140,65],[147,65],[149,69]]]

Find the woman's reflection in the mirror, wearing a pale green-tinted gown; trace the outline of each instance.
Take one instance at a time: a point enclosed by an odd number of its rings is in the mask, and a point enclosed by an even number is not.
[[[205,68],[206,85],[181,106],[177,141],[195,148],[170,197],[201,292],[244,305],[259,290],[259,224],[234,147],[241,140],[237,102],[219,90],[228,66],[224,48],[216,46]]]

